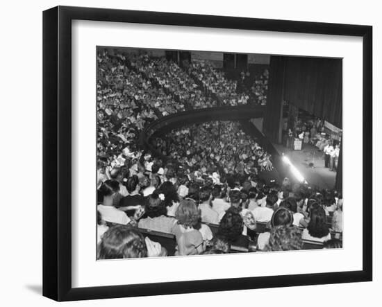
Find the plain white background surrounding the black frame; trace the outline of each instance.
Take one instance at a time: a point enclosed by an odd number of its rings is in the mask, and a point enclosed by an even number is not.
[[[1,252],[2,306],[53,306],[42,287],[42,10],[56,5],[133,10],[162,10],[208,15],[326,21],[374,26],[374,157],[382,154],[381,107],[376,108],[382,79],[382,21],[378,1],[5,1],[1,6],[0,125],[1,125]],[[377,78],[379,75],[379,78]],[[379,175],[376,175],[379,173]],[[67,303],[66,306],[376,306],[382,286],[382,227],[376,189],[382,184],[381,162],[374,158],[374,281],[162,297],[140,297]],[[5,199],[4,199],[5,196]],[[375,303],[374,303],[375,301]]]

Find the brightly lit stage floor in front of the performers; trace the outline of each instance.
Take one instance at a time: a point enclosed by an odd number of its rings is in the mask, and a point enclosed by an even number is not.
[[[303,144],[302,150],[291,150],[283,145],[273,145],[280,155],[284,154],[290,159],[308,184],[320,188],[333,188],[335,186],[336,172],[325,168],[324,152],[319,151],[315,146]],[[313,163],[313,168],[309,166],[310,163]]]

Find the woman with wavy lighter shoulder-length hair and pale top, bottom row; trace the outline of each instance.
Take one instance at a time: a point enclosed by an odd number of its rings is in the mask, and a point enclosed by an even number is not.
[[[176,236],[176,256],[196,255],[204,252],[203,236],[195,229],[200,220],[200,212],[193,200],[182,200],[175,213],[176,224],[172,233]]]

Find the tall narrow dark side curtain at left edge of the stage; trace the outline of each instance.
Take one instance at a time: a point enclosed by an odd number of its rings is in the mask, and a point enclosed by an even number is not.
[[[281,112],[285,76],[285,57],[271,56],[269,63],[269,88],[264,112],[263,132],[274,143],[279,143]]]

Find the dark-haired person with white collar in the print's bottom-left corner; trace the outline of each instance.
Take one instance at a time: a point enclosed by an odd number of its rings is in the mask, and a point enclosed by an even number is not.
[[[110,227],[97,248],[98,259],[157,257],[163,254],[159,243],[144,238],[138,229],[125,225]]]

